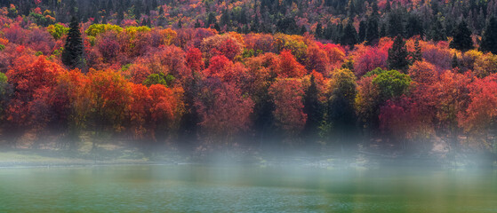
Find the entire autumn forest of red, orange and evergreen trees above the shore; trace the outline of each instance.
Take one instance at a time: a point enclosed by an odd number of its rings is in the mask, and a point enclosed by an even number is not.
[[[497,154],[495,0],[0,6],[1,146]]]

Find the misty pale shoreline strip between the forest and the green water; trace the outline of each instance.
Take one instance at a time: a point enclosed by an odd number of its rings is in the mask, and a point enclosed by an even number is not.
[[[497,170],[497,162],[471,161],[469,159],[458,159],[453,162],[448,159],[439,158],[367,158],[367,157],[332,157],[325,159],[309,160],[299,156],[287,156],[285,158],[261,158],[261,156],[250,156],[258,158],[253,161],[240,161],[239,159],[222,159],[219,163],[214,159],[205,161],[192,161],[181,159],[178,156],[168,156],[166,160],[150,159],[112,159],[91,160],[84,158],[50,157],[37,160],[37,154],[22,154],[23,159],[9,159],[0,152],[0,170],[2,169],[28,169],[28,168],[83,168],[103,166],[138,166],[138,165],[205,165],[205,166],[260,166],[260,167],[299,167],[299,168],[321,168],[321,169],[378,169],[378,168],[433,168],[433,169],[493,169]],[[304,160],[302,160],[304,159]],[[216,159],[219,160],[219,159]]]

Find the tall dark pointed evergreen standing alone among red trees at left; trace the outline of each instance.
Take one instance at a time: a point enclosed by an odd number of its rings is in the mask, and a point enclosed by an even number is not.
[[[79,29],[79,21],[73,16],[69,24],[68,38],[62,51],[62,62],[69,68],[84,67],[83,39]]]

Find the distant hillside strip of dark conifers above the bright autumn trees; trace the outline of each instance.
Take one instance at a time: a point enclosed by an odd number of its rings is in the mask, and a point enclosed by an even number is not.
[[[11,5],[12,4],[12,5]],[[376,43],[383,36],[446,41],[460,22],[482,36],[496,15],[495,0],[3,0],[11,18],[40,26],[82,21],[124,26],[215,28],[219,32],[313,34],[350,45]]]

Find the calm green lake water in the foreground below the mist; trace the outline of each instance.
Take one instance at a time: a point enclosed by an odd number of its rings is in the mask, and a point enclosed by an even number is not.
[[[0,169],[0,212],[497,212],[497,171]]]

